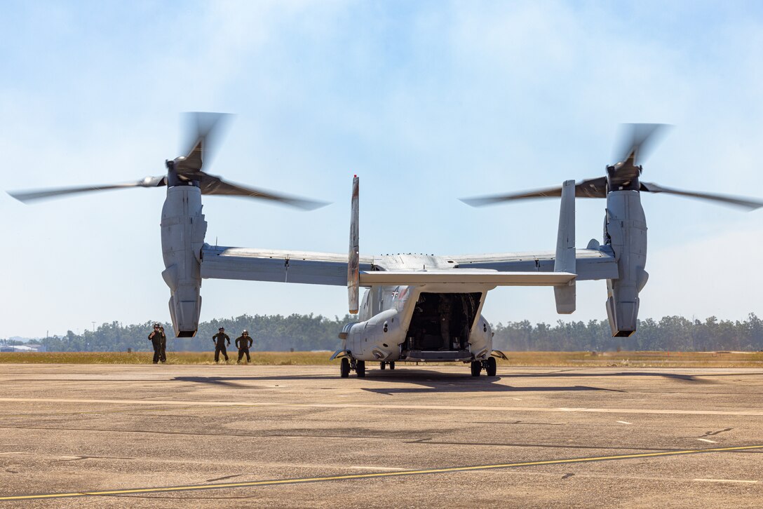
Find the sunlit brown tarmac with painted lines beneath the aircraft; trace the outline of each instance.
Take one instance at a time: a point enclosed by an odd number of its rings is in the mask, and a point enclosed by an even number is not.
[[[2,507],[761,507],[763,369],[0,365]]]

